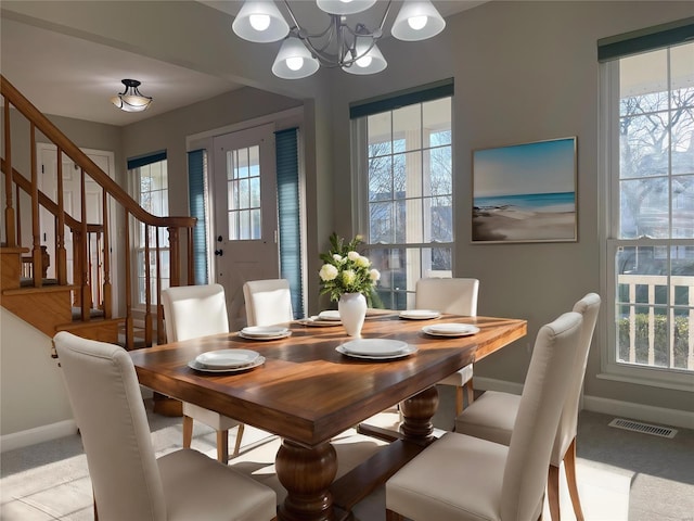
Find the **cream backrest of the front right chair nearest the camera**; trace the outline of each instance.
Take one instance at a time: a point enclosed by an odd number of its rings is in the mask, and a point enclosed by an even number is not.
[[[540,328],[511,434],[501,490],[501,519],[537,519],[566,382],[574,371],[582,316],[569,312]]]

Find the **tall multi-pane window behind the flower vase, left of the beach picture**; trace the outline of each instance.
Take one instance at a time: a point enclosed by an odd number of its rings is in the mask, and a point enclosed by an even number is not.
[[[361,231],[385,307],[414,305],[422,277],[451,277],[451,98],[355,118],[365,177]]]

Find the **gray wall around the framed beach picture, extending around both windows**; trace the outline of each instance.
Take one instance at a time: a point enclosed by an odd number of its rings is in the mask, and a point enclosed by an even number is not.
[[[693,2],[490,2],[447,18],[434,40],[384,41],[388,68],[373,77],[334,75],[334,191],[342,233],[350,229],[348,104],[454,78],[454,275],[480,280],[480,315],[528,320],[528,336],[475,365],[475,374],[522,383],[538,329],[589,291],[602,292],[599,201],[600,38],[694,15]],[[339,89],[337,86],[339,85]],[[472,151],[578,137],[578,242],[472,244]],[[602,315],[604,317],[604,314]],[[599,379],[604,325],[586,377],[589,396],[692,411],[690,392]]]

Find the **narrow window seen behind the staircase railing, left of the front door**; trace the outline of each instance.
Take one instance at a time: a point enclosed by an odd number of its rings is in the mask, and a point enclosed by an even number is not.
[[[168,192],[168,173],[166,158],[147,163],[130,169],[130,174],[134,179],[137,187],[137,199],[146,212],[158,217],[169,215],[169,192]],[[158,234],[158,242],[157,242]],[[156,304],[156,279],[157,270],[162,280],[162,289],[169,287],[169,239],[166,228],[155,228],[138,223],[136,233],[136,266],[138,269],[137,277],[137,295],[138,303],[146,302],[146,277],[150,275],[150,295],[151,303]],[[159,247],[158,263],[156,246]],[[146,255],[146,246],[150,249],[149,258]],[[157,266],[158,264],[158,266]]]

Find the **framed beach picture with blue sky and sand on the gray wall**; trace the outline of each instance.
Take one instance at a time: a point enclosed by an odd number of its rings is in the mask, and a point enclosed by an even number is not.
[[[472,241],[577,241],[576,141],[473,151]]]

